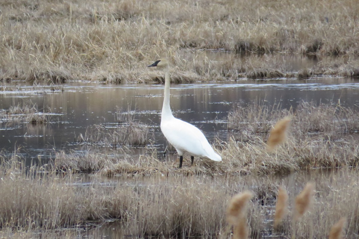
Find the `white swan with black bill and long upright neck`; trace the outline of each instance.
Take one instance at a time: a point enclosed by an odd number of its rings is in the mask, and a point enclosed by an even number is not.
[[[222,161],[221,156],[216,154],[208,143],[206,137],[194,125],[183,120],[176,119],[172,115],[169,106],[169,66],[166,59],[160,59],[147,67],[158,67],[164,71],[164,99],[161,113],[161,131],[169,143],[176,148],[180,156],[180,166],[182,167],[183,154],[191,156],[191,165],[194,157],[207,158],[213,161]]]

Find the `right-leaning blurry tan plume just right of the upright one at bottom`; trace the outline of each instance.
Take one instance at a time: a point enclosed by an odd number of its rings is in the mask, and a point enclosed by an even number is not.
[[[303,191],[295,198],[295,214],[294,220],[299,219],[303,214],[308,211],[309,206],[312,204],[314,196],[314,184],[307,183]]]

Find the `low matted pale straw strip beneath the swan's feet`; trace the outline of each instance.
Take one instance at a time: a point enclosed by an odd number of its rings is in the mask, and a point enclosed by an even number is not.
[[[256,142],[242,143],[230,138],[222,143],[220,154],[223,161],[212,162],[206,159],[197,160],[193,167],[176,169],[177,156],[164,160],[158,157],[153,149],[146,149],[139,157],[126,156],[108,160],[109,156],[88,153],[79,160],[92,158],[98,161],[109,161],[98,170],[103,175],[266,175],[269,173],[288,174],[307,168],[356,167],[359,149],[355,146],[358,140],[334,142],[322,140],[289,140],[286,147],[279,147],[275,153],[267,153],[265,142],[257,138]],[[126,154],[124,154],[126,155]],[[112,158],[116,158],[110,156]],[[102,159],[103,158],[103,159]],[[72,162],[74,157],[64,155],[61,160]],[[190,160],[189,157],[185,160]],[[66,164],[66,163],[65,163]],[[84,164],[86,164],[84,162]]]

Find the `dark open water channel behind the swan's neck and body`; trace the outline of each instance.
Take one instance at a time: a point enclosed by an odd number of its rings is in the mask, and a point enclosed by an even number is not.
[[[50,87],[34,90],[24,82],[20,91],[0,91],[0,109],[17,104],[36,104],[39,111],[51,109],[50,123],[29,124],[23,120],[0,119],[0,145],[8,152],[21,147],[30,159],[47,160],[56,150],[83,152],[87,146],[74,144],[88,126],[117,125],[117,109],[131,114],[137,121],[154,129],[154,146],[164,150],[164,138],[159,130],[163,85],[98,85],[97,83],[67,83],[63,91]],[[7,84],[7,86],[10,86]],[[13,86],[15,88],[15,86]],[[301,101],[359,105],[359,81],[349,78],[314,78],[306,81],[241,80],[223,83],[195,83],[171,86],[171,107],[177,118],[202,129],[209,140],[227,137],[226,117],[236,105],[264,101],[267,105],[296,107]],[[133,152],[137,152],[133,150]]]

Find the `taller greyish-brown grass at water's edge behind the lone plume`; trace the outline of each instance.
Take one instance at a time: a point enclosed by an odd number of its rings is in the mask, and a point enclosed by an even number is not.
[[[228,130],[239,132],[241,141],[267,134],[276,121],[289,114],[292,116],[291,130],[295,139],[306,139],[309,134],[340,139],[344,133],[356,133],[359,129],[357,111],[336,104],[302,102],[296,110],[281,109],[280,105],[266,106],[264,102],[234,108],[228,115]],[[237,136],[238,137],[238,136]]]

